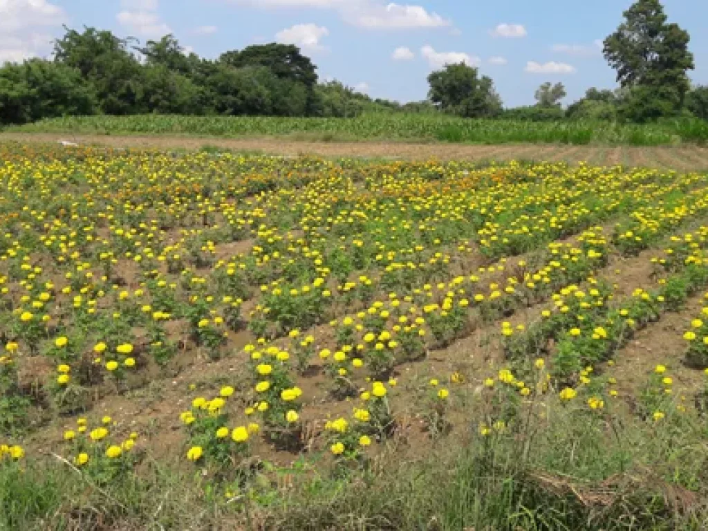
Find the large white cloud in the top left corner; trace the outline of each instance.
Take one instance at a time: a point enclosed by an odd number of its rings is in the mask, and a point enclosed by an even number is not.
[[[0,64],[50,55],[45,31],[66,20],[64,9],[45,0],[0,0]]]

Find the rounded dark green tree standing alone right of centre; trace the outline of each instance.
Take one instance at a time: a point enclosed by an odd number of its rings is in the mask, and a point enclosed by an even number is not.
[[[428,76],[428,98],[441,110],[467,118],[501,113],[501,98],[490,77],[467,64],[447,64]]]

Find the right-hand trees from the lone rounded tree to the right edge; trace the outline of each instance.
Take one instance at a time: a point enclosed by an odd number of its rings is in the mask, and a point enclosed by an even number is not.
[[[535,105],[503,110],[489,77],[479,76],[474,67],[451,64],[428,76],[428,97],[440,109],[468,117],[646,122],[687,115],[708,120],[708,86],[691,86],[687,76],[694,69],[689,41],[687,31],[668,22],[661,1],[638,0],[603,41],[603,55],[617,72],[615,90],[590,88],[563,109],[564,86],[545,83],[535,93]]]

